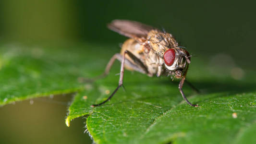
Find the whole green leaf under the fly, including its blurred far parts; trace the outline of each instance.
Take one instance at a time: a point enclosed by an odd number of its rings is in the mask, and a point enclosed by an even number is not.
[[[74,118],[86,116],[87,130],[97,144],[244,144],[256,141],[254,72],[221,63],[214,65],[212,58],[192,58],[187,74],[187,79],[202,93],[196,94],[186,84],[183,87],[188,99],[200,105],[198,108],[183,101],[178,81],[129,71],[124,72],[125,90],[120,88],[111,101],[91,108],[90,105],[105,100],[116,88],[119,75],[115,74],[119,73],[120,63],[116,62],[104,79],[85,84],[78,80],[103,72],[110,57],[119,52],[119,48],[111,50],[111,47],[2,45],[0,105],[77,92],[66,124],[69,126]]]

